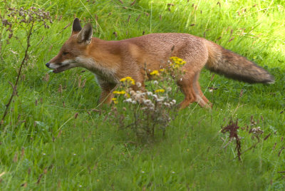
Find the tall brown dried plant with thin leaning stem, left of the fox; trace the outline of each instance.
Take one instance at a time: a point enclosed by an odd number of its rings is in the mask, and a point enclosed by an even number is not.
[[[17,86],[19,78],[21,76],[21,71],[24,65],[28,62],[28,50],[31,47],[31,36],[36,29],[44,26],[46,29],[49,28],[48,23],[52,24],[51,16],[49,12],[43,9],[38,9],[34,6],[29,9],[16,9],[12,7],[7,1],[4,1],[4,12],[0,13],[1,29],[0,31],[0,43],[6,40],[6,44],[10,43],[11,38],[18,38],[16,35],[16,30],[24,30],[26,34],[26,48],[24,48],[24,56],[21,60],[21,65],[19,66],[19,71],[16,77],[15,83],[11,83],[12,93],[9,98],[8,103],[5,105],[6,108],[2,115],[0,121],[0,127],[4,124],[4,119],[8,113],[9,106],[14,96],[17,95]],[[2,51],[2,43],[0,44],[0,53]]]

